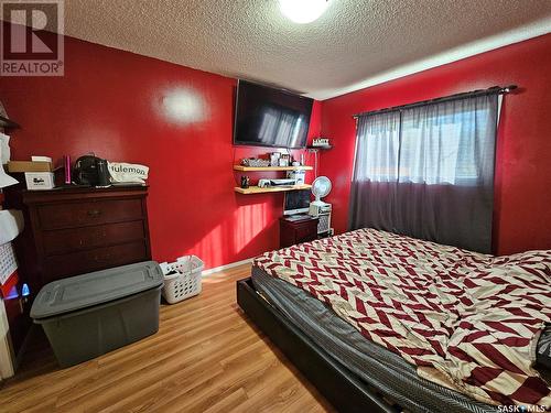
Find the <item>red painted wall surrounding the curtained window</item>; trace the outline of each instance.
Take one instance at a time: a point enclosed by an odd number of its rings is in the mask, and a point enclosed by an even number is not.
[[[322,134],[335,148],[322,154],[320,172],[334,182],[336,230],[348,219],[354,113],[510,84],[520,90],[501,111],[494,243],[500,254],[551,248],[551,34],[325,100]]]

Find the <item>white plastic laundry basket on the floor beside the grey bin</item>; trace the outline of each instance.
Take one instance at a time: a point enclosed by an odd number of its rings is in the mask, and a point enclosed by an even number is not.
[[[160,264],[164,274],[163,297],[169,304],[201,293],[201,273],[205,264],[198,257],[180,257],[176,262]]]

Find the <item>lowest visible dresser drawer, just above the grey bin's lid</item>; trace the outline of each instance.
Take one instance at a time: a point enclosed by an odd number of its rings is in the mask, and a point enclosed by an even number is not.
[[[44,260],[43,283],[150,259],[145,240],[54,256]]]

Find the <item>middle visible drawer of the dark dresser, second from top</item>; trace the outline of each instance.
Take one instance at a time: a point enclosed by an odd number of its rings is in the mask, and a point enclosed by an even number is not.
[[[47,257],[139,241],[144,238],[145,230],[142,220],[42,232],[44,254]]]

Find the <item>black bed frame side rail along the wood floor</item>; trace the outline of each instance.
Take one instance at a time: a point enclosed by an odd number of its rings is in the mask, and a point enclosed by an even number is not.
[[[247,316],[339,412],[400,411],[312,343],[284,315],[263,300],[250,278],[237,282],[237,303]]]

